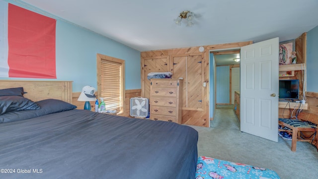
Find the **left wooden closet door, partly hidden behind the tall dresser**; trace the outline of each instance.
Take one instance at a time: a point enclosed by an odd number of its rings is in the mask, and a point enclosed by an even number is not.
[[[144,79],[145,79],[145,95],[143,97],[150,98],[150,80],[148,74],[150,72],[169,72],[168,57],[154,57],[152,59],[144,60]]]

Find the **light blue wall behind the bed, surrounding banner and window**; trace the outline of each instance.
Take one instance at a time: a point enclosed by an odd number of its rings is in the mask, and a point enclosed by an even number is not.
[[[125,89],[141,89],[140,51],[105,36],[43,12],[20,0],[4,0],[25,9],[57,19],[56,81],[73,81],[73,91],[90,85],[97,88],[96,54],[125,60]],[[21,80],[19,78],[0,78]],[[50,80],[50,79],[22,79]]]

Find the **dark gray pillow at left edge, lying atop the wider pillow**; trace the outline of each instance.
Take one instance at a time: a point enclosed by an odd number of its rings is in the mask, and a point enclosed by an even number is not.
[[[37,103],[23,96],[0,96],[0,115],[10,111],[31,109],[40,109],[40,106]]]

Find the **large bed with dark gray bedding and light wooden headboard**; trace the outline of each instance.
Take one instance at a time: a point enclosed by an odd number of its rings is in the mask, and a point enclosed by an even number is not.
[[[70,82],[56,83],[0,81],[0,89],[24,86],[19,99],[35,101],[0,114],[1,178],[194,179],[196,130],[76,109]],[[63,97],[47,95],[54,86]]]

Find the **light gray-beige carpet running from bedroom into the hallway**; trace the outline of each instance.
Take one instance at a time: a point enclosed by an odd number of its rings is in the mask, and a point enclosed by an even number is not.
[[[198,155],[275,171],[281,179],[318,179],[318,152],[308,142],[278,142],[240,132],[233,105],[217,105],[211,127],[191,126],[199,132]]]

